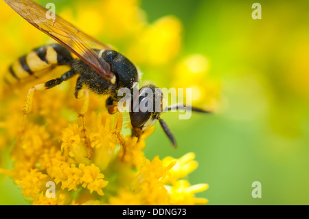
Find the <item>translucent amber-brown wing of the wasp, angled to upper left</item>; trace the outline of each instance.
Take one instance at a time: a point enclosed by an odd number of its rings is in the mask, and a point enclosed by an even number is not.
[[[76,54],[78,58],[91,66],[104,79],[115,83],[115,75],[111,72],[111,67],[91,49],[91,46],[97,49],[111,49],[110,47],[84,34],[74,25],[60,18],[60,16],[56,14],[51,16],[50,13],[52,12],[34,1],[5,0],[5,2],[38,30],[54,38],[73,54]],[[50,19],[47,19],[47,14]]]

